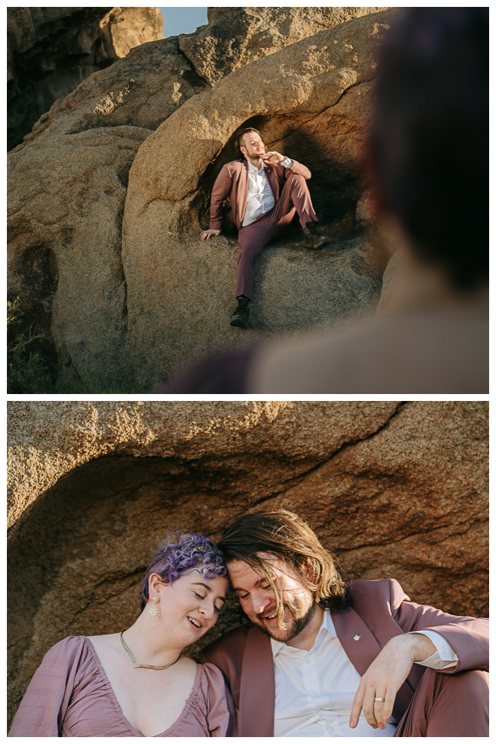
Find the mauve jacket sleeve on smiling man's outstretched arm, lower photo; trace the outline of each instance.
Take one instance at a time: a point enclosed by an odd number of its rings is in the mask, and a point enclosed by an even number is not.
[[[468,669],[489,671],[489,620],[448,615],[439,609],[405,600],[399,583],[391,579],[391,612],[405,631],[434,630],[451,646],[458,656],[455,667],[439,670],[450,674]]]

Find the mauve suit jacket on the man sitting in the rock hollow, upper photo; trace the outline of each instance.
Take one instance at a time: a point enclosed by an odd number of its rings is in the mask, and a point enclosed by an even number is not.
[[[309,179],[312,176],[309,169],[293,160],[291,168],[283,165],[266,165],[265,176],[271,187],[276,202],[280,199],[283,185],[289,173],[296,173]],[[210,202],[210,230],[220,230],[222,225],[222,202],[226,196],[231,200],[233,220],[238,230],[245,217],[246,202],[248,201],[248,161],[232,160],[222,167],[213,185],[212,200]]]

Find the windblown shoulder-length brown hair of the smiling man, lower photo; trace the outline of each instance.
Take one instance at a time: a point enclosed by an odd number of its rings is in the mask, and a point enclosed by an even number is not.
[[[285,509],[264,509],[236,516],[225,522],[216,542],[226,563],[243,561],[265,577],[277,598],[281,627],[283,602],[274,586],[271,561],[260,554],[270,554],[292,568],[322,607],[344,609],[348,605],[337,559],[323,548],[315,532],[297,514]]]

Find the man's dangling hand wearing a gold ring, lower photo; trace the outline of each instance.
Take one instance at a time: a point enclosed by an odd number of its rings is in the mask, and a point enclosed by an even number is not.
[[[407,679],[414,661],[425,661],[436,652],[426,635],[396,635],[384,646],[379,656],[361,678],[351,709],[350,727],[355,728],[360,711],[372,728],[386,728],[393,713],[396,693]],[[385,702],[375,702],[374,698]]]

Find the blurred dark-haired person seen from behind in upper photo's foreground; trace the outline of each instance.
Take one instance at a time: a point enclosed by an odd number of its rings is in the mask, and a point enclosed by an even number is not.
[[[488,42],[487,7],[414,7],[381,45],[368,180],[402,248],[382,314],[212,353],[158,392],[489,392]]]

